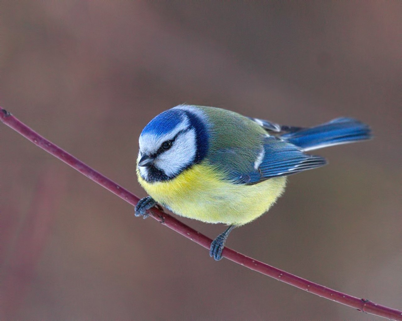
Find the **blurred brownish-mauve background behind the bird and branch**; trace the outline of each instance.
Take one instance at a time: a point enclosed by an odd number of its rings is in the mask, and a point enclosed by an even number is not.
[[[316,151],[228,246],[402,307],[401,2],[2,2],[1,105],[140,197],[137,139],[187,102],[375,139]],[[2,319],[379,320],[207,250],[0,124]],[[183,219],[214,238],[224,226]]]

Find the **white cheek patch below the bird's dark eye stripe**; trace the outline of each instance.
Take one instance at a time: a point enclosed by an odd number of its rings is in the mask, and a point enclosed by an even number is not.
[[[180,173],[191,164],[196,154],[195,130],[179,134],[172,148],[166,150],[155,160],[155,166],[170,177]]]

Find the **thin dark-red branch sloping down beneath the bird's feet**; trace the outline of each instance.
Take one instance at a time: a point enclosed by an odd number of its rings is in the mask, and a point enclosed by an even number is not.
[[[135,206],[139,200],[139,198],[129,191],[111,181],[107,177],[98,173],[94,169],[90,168],[88,165],[85,165],[80,160],[69,154],[68,152],[62,150],[55,144],[49,142],[36,132],[34,132],[31,128],[20,122],[17,118],[12,116],[9,112],[0,107],[0,118],[4,124],[14,129],[16,132],[23,135],[25,138],[31,140],[35,145],[40,148],[46,150],[48,153],[53,156],[59,158],[64,163],[70,165],[72,168],[76,169],[86,177],[92,179],[92,181],[98,183],[99,185],[105,187],[115,195],[119,196],[121,199]],[[158,222],[167,226],[168,228],[178,232],[179,234],[189,238],[195,243],[207,248],[211,245],[212,240],[207,238],[206,236],[200,234],[196,230],[193,230],[189,226],[183,224],[178,221],[174,217],[169,214],[160,211],[156,208],[152,208],[149,211],[150,216],[156,219]],[[359,311],[363,311],[366,313],[370,313],[373,315],[377,315],[379,317],[385,317],[392,320],[400,320],[402,321],[402,311],[398,311],[396,309],[391,309],[389,307],[385,307],[384,305],[379,305],[377,303],[371,302],[366,299],[360,299],[357,297],[353,297],[351,295],[347,295],[345,293],[341,293],[320,284],[305,280],[304,278],[300,278],[283,270],[279,270],[273,266],[265,264],[263,262],[254,260],[244,254],[238,253],[230,248],[225,247],[222,256],[241,264],[242,266],[246,266],[251,270],[260,272],[267,276],[271,276],[279,281],[285,282],[287,284],[293,285],[301,290],[308,291],[320,297],[324,297],[331,301],[335,301],[338,303],[342,303],[349,307],[353,307],[358,309]]]

